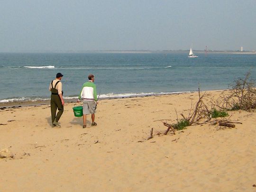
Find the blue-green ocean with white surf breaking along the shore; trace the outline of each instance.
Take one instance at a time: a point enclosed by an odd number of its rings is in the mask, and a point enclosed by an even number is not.
[[[78,97],[93,73],[100,99],[228,89],[250,71],[256,54],[196,53],[0,53],[0,103],[49,100],[56,73],[64,99]]]

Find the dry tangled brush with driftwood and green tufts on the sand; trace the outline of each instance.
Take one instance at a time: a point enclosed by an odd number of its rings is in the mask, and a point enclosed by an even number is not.
[[[215,124],[219,123],[219,126],[234,128],[235,125],[231,123],[239,122],[223,119],[229,116],[228,110],[251,111],[252,109],[256,109],[256,82],[249,79],[249,77],[250,72],[246,74],[244,79],[238,78],[238,80],[230,86],[231,89],[222,91],[217,99],[210,97],[206,92],[201,95],[200,89],[198,88],[199,100],[194,104],[191,103],[191,109],[187,117],[181,113],[183,119],[178,120],[177,115],[177,123],[170,125],[163,122],[164,125],[168,127],[164,135],[166,135],[170,129],[172,129],[175,135],[174,129],[182,130],[187,126],[212,122],[215,122]],[[210,121],[211,118],[222,118],[222,120]],[[213,123],[211,125],[215,124]]]

